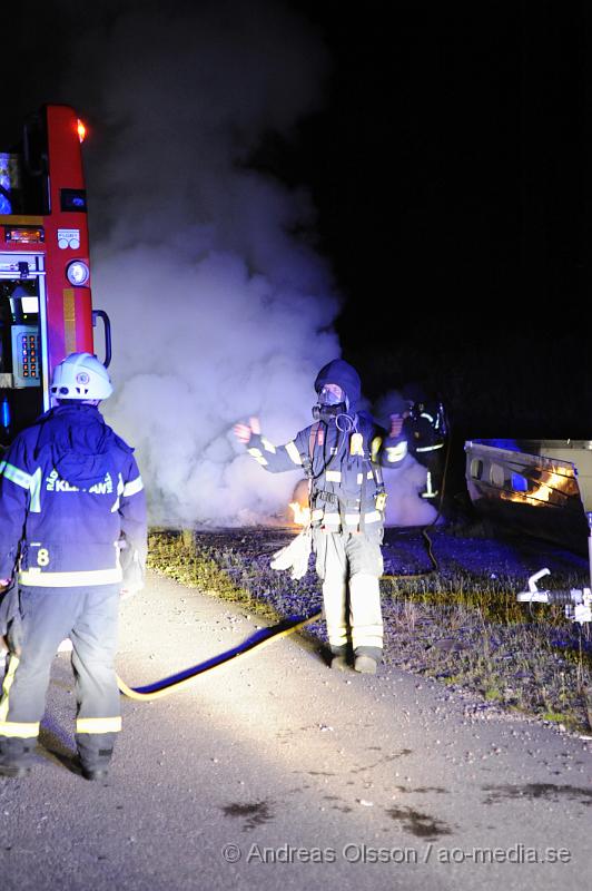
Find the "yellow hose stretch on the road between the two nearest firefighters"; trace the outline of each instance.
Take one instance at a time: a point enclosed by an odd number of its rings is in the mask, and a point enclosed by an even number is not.
[[[206,662],[194,665],[176,675],[170,675],[169,677],[165,677],[161,681],[157,681],[154,684],[148,684],[144,687],[129,687],[118,675],[117,684],[119,691],[124,694],[124,696],[127,696],[130,699],[137,699],[139,702],[160,699],[162,696],[168,696],[170,693],[178,693],[179,691],[185,689],[207,672],[211,672],[221,665],[227,665],[234,659],[247,656],[249,653],[263,649],[263,647],[267,646],[267,644],[272,644],[274,640],[279,640],[280,637],[287,637],[288,635],[294,634],[294,631],[297,631],[298,628],[303,628],[305,625],[317,621],[322,615],[322,610],[319,609],[316,613],[312,613],[309,616],[305,616],[304,618],[302,616],[292,616],[287,619],[283,619],[282,621],[278,621],[277,625],[272,625],[269,628],[262,629],[258,634],[247,638],[237,647],[227,649],[210,659],[206,659]]]

